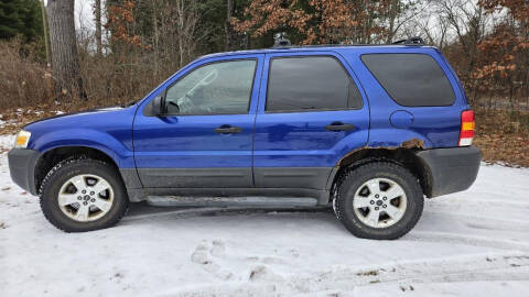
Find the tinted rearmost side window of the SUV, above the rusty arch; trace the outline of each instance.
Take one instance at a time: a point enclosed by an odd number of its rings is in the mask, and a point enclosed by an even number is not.
[[[429,55],[369,54],[361,61],[380,85],[407,107],[451,106],[455,95],[446,75]]]

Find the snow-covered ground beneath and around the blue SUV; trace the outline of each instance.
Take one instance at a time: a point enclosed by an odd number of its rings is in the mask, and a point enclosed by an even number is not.
[[[529,296],[528,215],[529,169],[484,165],[398,241],[354,238],[327,210],[144,205],[67,234],[11,183],[3,153],[0,296]]]

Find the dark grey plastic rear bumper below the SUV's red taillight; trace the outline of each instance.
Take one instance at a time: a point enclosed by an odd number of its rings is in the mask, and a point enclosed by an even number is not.
[[[482,160],[482,152],[476,146],[427,150],[417,155],[428,168],[427,197],[469,188],[476,180]]]

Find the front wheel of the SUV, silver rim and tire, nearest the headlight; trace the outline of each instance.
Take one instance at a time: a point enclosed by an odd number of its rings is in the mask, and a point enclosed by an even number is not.
[[[40,197],[46,219],[66,232],[108,228],[128,208],[125,185],[116,168],[89,158],[57,164],[44,178]]]

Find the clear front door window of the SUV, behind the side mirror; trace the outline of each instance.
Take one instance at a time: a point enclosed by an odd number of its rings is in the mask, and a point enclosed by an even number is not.
[[[168,114],[248,113],[257,61],[239,59],[201,66],[168,88]]]

